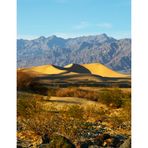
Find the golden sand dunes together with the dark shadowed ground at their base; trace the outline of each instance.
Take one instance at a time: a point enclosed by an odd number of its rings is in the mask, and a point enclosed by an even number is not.
[[[99,63],[35,66],[17,70],[18,89],[37,84],[44,87],[67,86],[119,86],[130,87],[130,77],[113,71]],[[33,87],[32,87],[33,86]],[[38,89],[38,88],[37,88]]]

